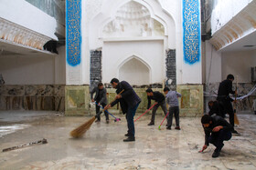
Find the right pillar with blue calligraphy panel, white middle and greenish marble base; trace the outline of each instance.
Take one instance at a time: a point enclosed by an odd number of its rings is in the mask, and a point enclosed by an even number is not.
[[[183,64],[180,115],[203,115],[200,1],[183,0]]]

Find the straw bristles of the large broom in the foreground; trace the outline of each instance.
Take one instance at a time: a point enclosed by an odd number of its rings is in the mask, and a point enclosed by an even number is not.
[[[84,123],[83,125],[80,125],[79,127],[77,127],[76,129],[72,130],[70,132],[70,135],[74,138],[79,138],[82,135],[84,135],[86,133],[87,130],[90,129],[91,125],[93,124],[94,120],[96,119],[95,116],[91,117],[91,119],[89,121],[87,121],[86,123]]]

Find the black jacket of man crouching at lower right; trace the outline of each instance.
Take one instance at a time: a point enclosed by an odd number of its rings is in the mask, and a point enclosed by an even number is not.
[[[208,127],[204,127],[205,131],[205,145],[208,145],[208,138],[211,133],[218,133],[218,132],[212,132],[212,129],[216,126],[223,126],[223,130],[225,131],[232,131],[233,126],[230,125],[224,118],[220,117],[219,115],[211,116],[212,123]]]

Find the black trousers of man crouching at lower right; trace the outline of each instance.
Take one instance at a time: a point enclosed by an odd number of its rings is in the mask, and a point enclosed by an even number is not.
[[[230,131],[220,129],[219,132],[211,133],[208,138],[208,142],[212,145],[215,145],[217,150],[220,151],[224,145],[223,141],[228,141],[231,137],[232,134]]]

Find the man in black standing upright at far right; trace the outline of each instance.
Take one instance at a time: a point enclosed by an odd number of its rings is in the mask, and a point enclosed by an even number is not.
[[[219,84],[218,97],[219,105],[223,106],[224,114],[229,114],[229,124],[234,127],[234,110],[231,102],[233,99],[229,97],[229,94],[235,95],[235,91],[232,90],[232,82],[234,81],[234,75],[228,75],[226,80],[223,80]],[[233,134],[238,134],[237,131],[233,129]]]

